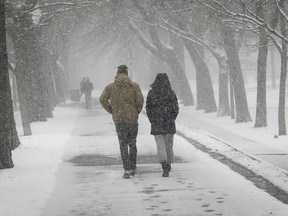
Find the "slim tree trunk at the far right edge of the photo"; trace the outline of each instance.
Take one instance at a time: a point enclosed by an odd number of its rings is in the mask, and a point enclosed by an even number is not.
[[[279,5],[284,9],[284,0],[281,0]],[[283,16],[280,17],[281,34],[286,37],[286,21]],[[286,120],[285,120],[285,91],[286,91],[286,77],[287,77],[287,43],[282,40],[282,53],[281,53],[281,75],[279,87],[279,107],[278,107],[278,130],[279,135],[286,135]]]

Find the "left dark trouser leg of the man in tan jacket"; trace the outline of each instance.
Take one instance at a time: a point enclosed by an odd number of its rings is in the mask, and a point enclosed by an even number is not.
[[[129,154],[127,142],[127,128],[125,124],[115,124],[118,140],[120,144],[120,154],[125,171],[129,171]]]

